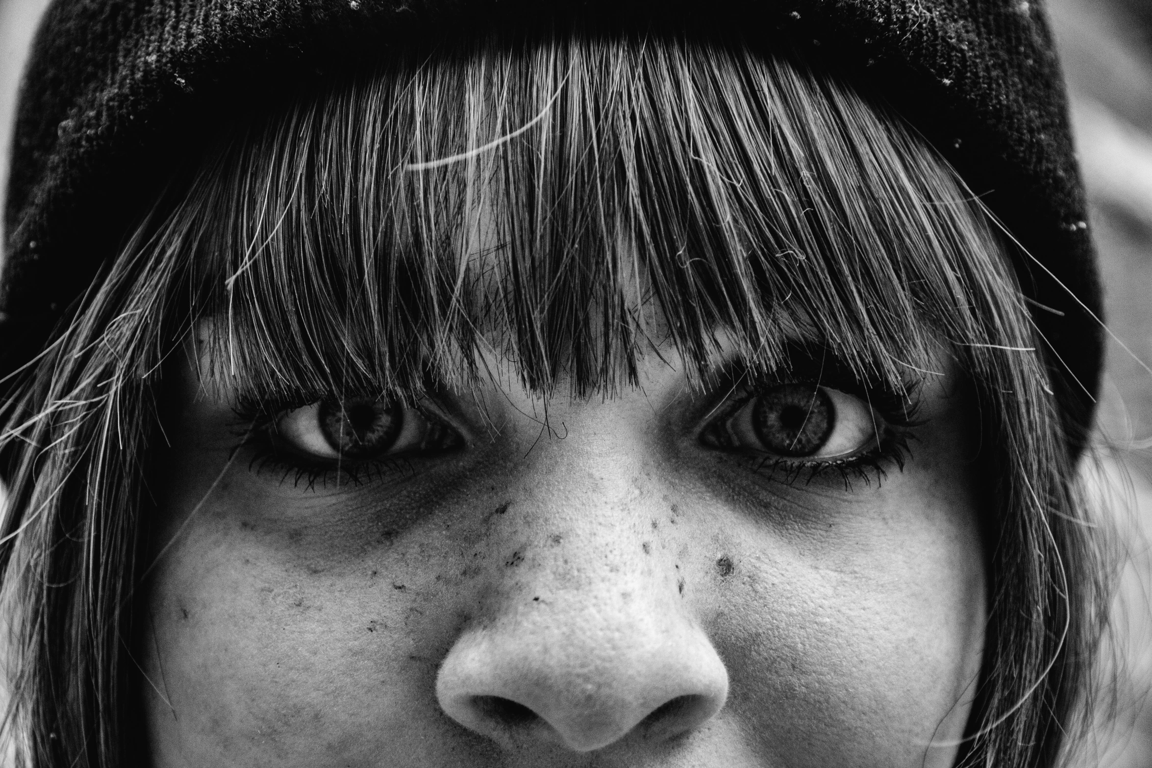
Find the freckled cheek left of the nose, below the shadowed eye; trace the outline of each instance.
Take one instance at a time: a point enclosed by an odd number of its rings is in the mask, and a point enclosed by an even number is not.
[[[435,592],[455,563],[400,543],[365,552],[361,535],[333,555],[316,531],[265,533],[214,511],[150,585],[156,765],[380,765],[381,735],[412,765],[457,765],[439,746],[458,733],[429,738],[447,725],[434,680],[461,617]]]

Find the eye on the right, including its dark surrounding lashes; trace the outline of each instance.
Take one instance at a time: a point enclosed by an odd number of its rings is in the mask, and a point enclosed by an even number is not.
[[[856,382],[771,381],[737,393],[700,433],[700,442],[757,459],[788,481],[826,471],[879,479],[903,467],[915,426],[915,402]]]

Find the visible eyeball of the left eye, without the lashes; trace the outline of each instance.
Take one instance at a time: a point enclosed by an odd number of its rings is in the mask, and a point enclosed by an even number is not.
[[[328,400],[275,423],[275,440],[320,459],[364,459],[446,450],[462,443],[448,425],[415,408],[371,398]]]

